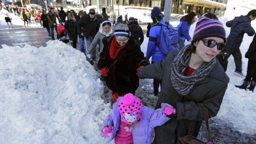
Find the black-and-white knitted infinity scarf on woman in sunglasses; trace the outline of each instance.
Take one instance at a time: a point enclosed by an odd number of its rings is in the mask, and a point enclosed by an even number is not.
[[[188,66],[191,52],[185,46],[178,55],[174,58],[171,66],[171,81],[177,92],[183,96],[188,95],[194,84],[205,78],[207,74],[216,64],[216,59],[213,58],[210,62],[204,62],[191,75],[184,76],[186,67]]]

